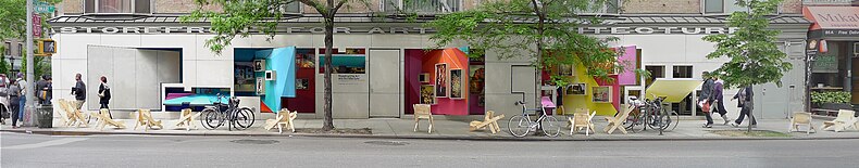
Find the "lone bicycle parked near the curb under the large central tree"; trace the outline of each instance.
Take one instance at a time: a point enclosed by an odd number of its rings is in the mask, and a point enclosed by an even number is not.
[[[546,108],[527,108],[523,101],[516,101],[516,105],[522,105],[522,115],[513,116],[507,122],[507,129],[513,137],[525,137],[532,129],[536,131],[537,128],[543,129],[543,133],[548,137],[558,137],[561,133],[561,126],[558,119],[547,115]],[[532,121],[528,112],[539,112],[540,116]]]

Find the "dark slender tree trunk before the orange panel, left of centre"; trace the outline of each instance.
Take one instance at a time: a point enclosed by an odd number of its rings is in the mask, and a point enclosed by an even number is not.
[[[322,124],[323,130],[334,129],[334,119],[332,118],[332,83],[331,73],[332,68],[332,50],[334,46],[334,13],[325,15],[325,105],[324,105],[324,120]]]

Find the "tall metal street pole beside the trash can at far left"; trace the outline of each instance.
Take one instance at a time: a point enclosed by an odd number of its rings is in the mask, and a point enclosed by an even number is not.
[[[24,106],[24,108],[26,109],[24,112],[28,113],[29,116],[30,116],[29,120],[25,121],[25,124],[28,124],[29,126],[34,126],[34,120],[36,120],[36,118],[34,118],[34,117],[36,117],[35,116],[36,113],[35,113],[35,111],[33,108],[34,107],[34,102],[36,102],[35,98],[33,96],[34,95],[33,92],[35,91],[34,90],[34,87],[35,87],[34,83],[35,82],[33,82],[33,81],[35,81],[35,80],[33,80],[33,62],[34,62],[34,59],[33,59],[33,50],[34,50],[33,49],[33,38],[34,38],[33,37],[33,25],[34,25],[34,23],[33,23],[33,0],[27,0],[27,77],[26,77],[27,86],[26,86],[26,91],[25,91],[25,93],[26,93],[25,98],[27,99],[27,102],[26,102],[26,105]]]

